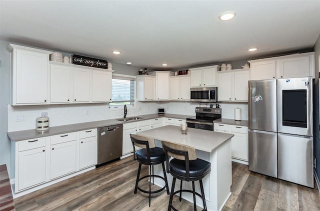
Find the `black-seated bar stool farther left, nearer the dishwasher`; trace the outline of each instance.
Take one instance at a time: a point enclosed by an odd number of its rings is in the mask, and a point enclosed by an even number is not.
[[[169,194],[169,187],[168,187],[168,181],[166,179],[166,173],[165,173],[165,168],[164,168],[164,161],[165,159],[165,153],[160,147],[155,147],[154,139],[151,137],[146,137],[146,136],[141,136],[141,135],[135,135],[135,134],[130,134],[131,137],[131,142],[133,146],[133,159],[137,160],[139,162],[139,167],[138,167],[138,172],[136,175],[136,181],[135,181],[135,187],[134,187],[134,194],[136,193],[137,189],[139,189],[141,192],[144,193],[149,193],[149,206],[150,206],[150,201],[151,201],[151,193],[156,193],[162,191],[164,188],[166,188],[166,193]],[[135,146],[140,147],[135,153]],[[163,175],[154,175],[153,173],[153,165],[156,164],[162,164],[162,170],[163,170]],[[149,173],[148,175],[140,177],[140,171],[141,171],[141,165],[149,165]],[[151,173],[151,166],[152,166],[152,173]],[[153,190],[151,191],[151,176],[152,179],[153,177],[158,177],[164,180],[165,185],[161,187],[160,189]],[[141,179],[144,179],[146,177],[149,177],[149,189],[144,190],[139,187],[138,183]],[[153,180],[152,180],[153,184]]]

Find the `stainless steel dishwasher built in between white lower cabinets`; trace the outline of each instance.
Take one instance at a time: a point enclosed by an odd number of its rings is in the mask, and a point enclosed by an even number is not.
[[[97,165],[122,155],[122,124],[98,128]]]

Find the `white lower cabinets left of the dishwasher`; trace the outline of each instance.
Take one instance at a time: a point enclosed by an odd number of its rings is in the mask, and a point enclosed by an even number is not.
[[[96,128],[12,142],[20,192],[96,164]]]

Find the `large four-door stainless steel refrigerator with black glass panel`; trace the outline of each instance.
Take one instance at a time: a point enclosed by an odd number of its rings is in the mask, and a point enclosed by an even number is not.
[[[312,77],[248,87],[249,170],[313,187]]]

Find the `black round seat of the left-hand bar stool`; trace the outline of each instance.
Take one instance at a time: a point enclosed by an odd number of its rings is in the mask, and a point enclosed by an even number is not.
[[[149,150],[151,154],[150,160],[148,160],[148,153],[146,148],[141,148],[137,150],[136,159],[142,164],[144,163],[157,164],[165,161],[165,153],[162,148],[154,147],[154,148],[150,148]]]

